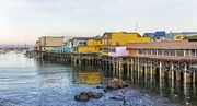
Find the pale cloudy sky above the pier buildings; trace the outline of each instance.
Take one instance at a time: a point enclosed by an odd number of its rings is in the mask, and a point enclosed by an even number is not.
[[[197,31],[197,0],[0,0],[0,44],[38,36]]]

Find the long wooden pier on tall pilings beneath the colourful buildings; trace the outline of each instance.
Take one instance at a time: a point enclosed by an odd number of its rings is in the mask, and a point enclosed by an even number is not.
[[[157,59],[148,57],[108,57],[99,54],[57,54],[36,51],[44,60],[79,66],[99,66],[115,78],[138,80],[140,75],[152,81],[159,78],[161,84],[171,81],[173,84],[187,83],[197,85],[197,60]],[[162,86],[162,85],[161,85]]]

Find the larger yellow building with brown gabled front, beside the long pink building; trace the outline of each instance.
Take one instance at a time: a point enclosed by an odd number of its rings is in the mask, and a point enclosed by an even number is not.
[[[147,43],[150,37],[142,37],[138,33],[112,32],[102,37],[102,55],[108,55],[108,47],[125,46],[128,43]]]

